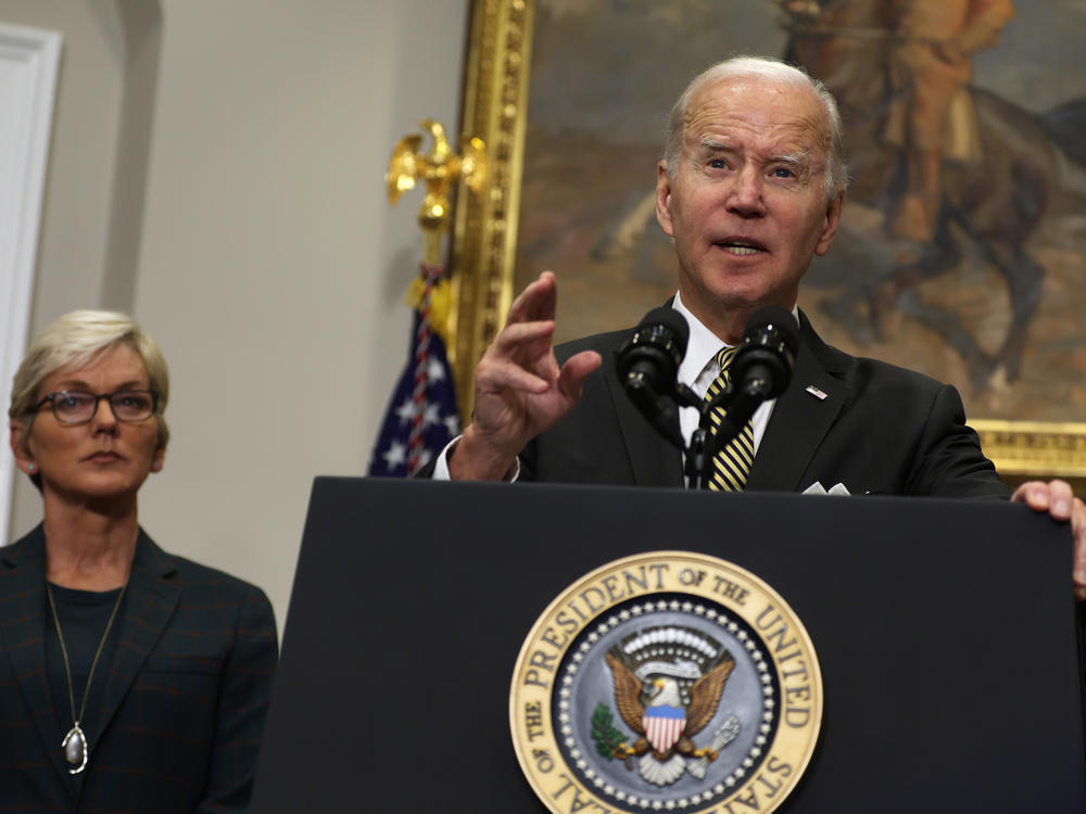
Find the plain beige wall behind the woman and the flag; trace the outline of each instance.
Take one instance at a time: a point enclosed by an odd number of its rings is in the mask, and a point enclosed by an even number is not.
[[[140,519],[168,550],[263,586],[281,624],[312,480],[365,472],[406,359],[419,200],[390,209],[383,171],[422,116],[456,130],[468,0],[162,0],[146,174],[111,175],[139,119],[118,110],[118,72],[150,68],[130,53],[127,68],[81,62],[132,48],[126,2],[0,0],[0,21],[65,36],[31,330],[116,300],[118,227],[102,213],[146,177],[126,218],[142,218],[138,240],[121,243],[135,246],[130,307],[171,365],[173,440]],[[112,44],[79,44],[96,37]],[[84,147],[98,117],[112,136]],[[21,483],[11,535],[39,517]]]

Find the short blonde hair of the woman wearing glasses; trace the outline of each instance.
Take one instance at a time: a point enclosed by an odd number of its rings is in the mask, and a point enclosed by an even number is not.
[[[131,347],[147,369],[152,391],[159,394],[159,448],[165,449],[169,428],[164,418],[169,402],[169,370],[154,340],[127,314],[109,310],[73,310],[56,319],[30,343],[11,386],[8,418],[23,422],[23,437],[34,423],[34,408],[43,394],[41,383],[55,372],[76,371],[92,365],[117,345]]]

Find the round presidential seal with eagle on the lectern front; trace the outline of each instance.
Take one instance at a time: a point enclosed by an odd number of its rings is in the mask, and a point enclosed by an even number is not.
[[[570,812],[771,812],[810,761],[822,677],[792,609],[689,551],[566,588],[517,659],[509,722],[540,800]]]

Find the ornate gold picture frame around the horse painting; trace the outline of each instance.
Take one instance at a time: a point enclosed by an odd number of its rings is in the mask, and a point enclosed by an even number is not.
[[[475,365],[514,297],[527,100],[536,0],[475,0],[462,132],[487,144],[488,178],[462,188],[452,242],[450,357],[462,412],[472,408]],[[985,454],[1009,483],[1064,478],[1086,491],[1086,422],[973,419]]]

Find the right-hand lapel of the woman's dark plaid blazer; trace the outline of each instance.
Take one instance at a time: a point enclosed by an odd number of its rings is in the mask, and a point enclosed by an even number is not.
[[[113,720],[114,713],[131,687],[132,681],[147,661],[177,609],[181,589],[166,577],[175,571],[169,555],[159,548],[140,530],[132,560],[131,575],[125,597],[125,611],[121,618],[117,652],[105,685],[102,710],[89,728],[91,745],[99,742]]]

